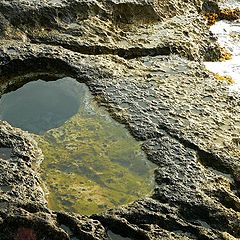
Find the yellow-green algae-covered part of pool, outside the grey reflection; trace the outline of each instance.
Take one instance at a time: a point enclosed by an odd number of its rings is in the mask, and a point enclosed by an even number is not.
[[[48,124],[55,128],[44,132],[41,129],[45,126],[39,123],[41,131],[38,126],[39,134],[33,134],[44,154],[41,176],[49,207],[89,215],[148,195],[153,188],[154,165],[146,159],[141,142],[97,105],[85,84],[70,78],[58,80],[56,84],[60,96],[62,89],[66,89],[68,96],[78,99],[79,110],[61,126],[50,121]],[[53,86],[54,82],[51,91]],[[59,94],[54,96],[60,103]],[[54,105],[54,111],[58,105]],[[62,106],[67,106],[66,102]],[[42,105],[41,109],[44,109]],[[32,121],[34,116],[29,119]],[[17,122],[17,118],[14,120]],[[33,124],[28,125],[32,129]]]

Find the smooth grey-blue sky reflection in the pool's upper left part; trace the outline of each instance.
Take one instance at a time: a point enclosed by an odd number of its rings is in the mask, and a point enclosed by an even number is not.
[[[23,130],[42,134],[61,126],[76,114],[80,96],[81,92],[72,79],[30,82],[2,96],[0,119]]]

